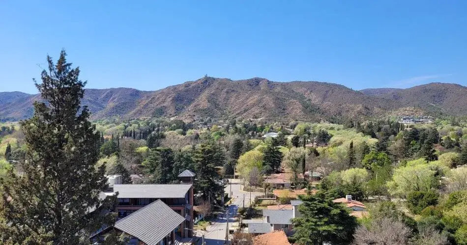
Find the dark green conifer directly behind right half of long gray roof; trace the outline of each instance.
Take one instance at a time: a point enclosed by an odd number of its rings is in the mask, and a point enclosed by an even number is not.
[[[168,184],[175,180],[172,175],[174,163],[174,151],[171,148],[157,147],[149,150],[149,154],[143,162],[149,182],[152,184]]]

